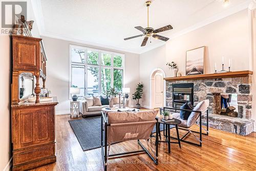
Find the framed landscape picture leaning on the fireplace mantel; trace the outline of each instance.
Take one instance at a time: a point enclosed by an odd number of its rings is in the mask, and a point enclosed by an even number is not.
[[[198,75],[204,73],[204,50],[200,47],[186,51],[186,75]]]

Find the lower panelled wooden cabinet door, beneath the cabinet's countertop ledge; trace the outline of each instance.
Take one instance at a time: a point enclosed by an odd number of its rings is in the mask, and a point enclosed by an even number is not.
[[[13,116],[14,149],[54,141],[54,106],[13,110]]]

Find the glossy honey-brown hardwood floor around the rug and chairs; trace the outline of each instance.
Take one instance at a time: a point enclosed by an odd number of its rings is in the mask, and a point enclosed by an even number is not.
[[[69,115],[56,116],[57,162],[32,170],[103,170],[100,148],[83,152],[68,120]],[[171,132],[176,136],[175,130]],[[154,141],[150,140],[152,147]],[[159,144],[158,165],[146,154],[140,154],[112,158],[108,170],[256,170],[256,133],[243,137],[210,129],[209,136],[203,135],[202,147],[183,142],[181,148],[178,144],[171,146],[168,154],[167,143]],[[110,154],[136,149],[137,141],[122,142],[113,144]]]

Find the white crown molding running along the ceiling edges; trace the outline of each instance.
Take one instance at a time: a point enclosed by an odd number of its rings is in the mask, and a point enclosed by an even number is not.
[[[193,26],[190,26],[186,29],[178,31],[178,32],[176,32],[176,33],[174,33],[174,34],[172,34],[168,37],[170,39],[176,38],[176,37],[182,36],[186,33],[189,33],[191,31],[194,31],[196,29],[199,29],[201,27],[204,27],[208,24],[214,23],[217,20],[220,20],[222,18],[225,18],[229,15],[232,15],[234,13],[237,13],[239,11],[242,11],[242,10],[248,8],[250,3],[252,3],[252,2],[255,3],[255,1],[256,0],[246,0],[242,4],[239,4],[237,6],[234,6],[234,7],[230,8],[230,9],[227,9],[226,11],[224,11],[222,13],[214,15],[214,16],[204,20],[203,22],[199,22],[199,23],[197,23]],[[46,32],[46,30],[45,30],[44,16],[42,14],[42,8],[41,8],[41,0],[31,1],[31,3],[32,3],[32,8],[33,8],[34,14],[35,14],[36,22],[37,22],[37,25],[38,25],[39,34],[41,36],[52,37],[52,38],[57,38],[57,39],[62,39],[62,40],[67,40],[67,41],[74,41],[74,42],[78,42],[78,43],[81,43],[81,44],[86,44],[86,45],[89,45],[89,46],[96,46],[96,47],[100,47],[100,48],[107,48],[107,49],[112,49],[112,50],[117,50],[117,51],[122,51],[122,52],[130,52],[130,53],[135,53],[135,54],[142,54],[142,53],[145,53],[147,51],[156,49],[156,48],[161,47],[161,46],[166,44],[166,42],[159,42],[155,45],[148,46],[148,47],[143,48],[142,50],[136,51],[136,50],[129,50],[129,49],[120,48],[120,47],[108,46],[108,45],[98,44],[96,42],[89,42],[89,41],[84,41],[84,40],[81,40],[81,39],[76,39],[76,38],[73,38],[73,37],[67,37],[67,36],[63,36],[63,35],[49,33],[49,32]],[[35,13],[35,11],[36,11],[36,13]]]

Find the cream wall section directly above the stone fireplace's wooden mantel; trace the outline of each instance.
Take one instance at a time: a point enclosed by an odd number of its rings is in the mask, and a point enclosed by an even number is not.
[[[182,75],[185,75],[186,51],[206,46],[205,73],[213,73],[222,68],[222,56],[225,69],[231,59],[231,70],[249,69],[249,28],[248,10],[243,10],[218,20],[180,37],[171,39],[166,44],[166,61],[175,61]]]

